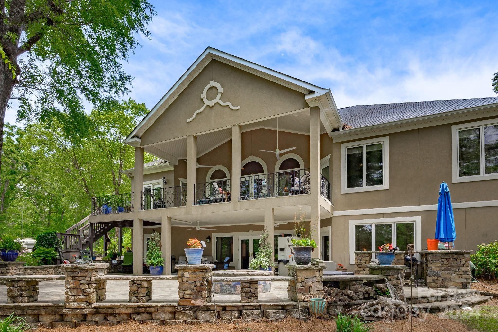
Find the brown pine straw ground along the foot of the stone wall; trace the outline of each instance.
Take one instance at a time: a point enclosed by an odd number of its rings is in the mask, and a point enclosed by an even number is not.
[[[86,326],[79,327],[76,329],[68,328],[58,328],[58,329],[40,329],[38,332],[214,332],[214,331],[261,331],[261,332],[306,332],[311,327],[312,322],[303,322],[299,325],[299,320],[287,319],[280,322],[251,322],[249,324],[198,324],[198,325],[176,325],[176,326],[164,326],[164,325],[154,325],[154,324],[141,324],[137,322],[129,322],[112,327],[97,327],[97,326]],[[336,330],[336,325],[333,320],[324,321],[324,325],[331,331]],[[374,322],[372,323],[374,332],[410,332],[411,324],[409,320],[397,321],[395,323],[388,322]],[[317,322],[312,331],[326,332],[320,322]],[[424,332],[441,332],[441,331],[459,331],[459,332],[473,332],[463,323],[458,320],[452,319],[440,319],[436,315],[427,315],[425,321],[419,319],[413,320],[413,331],[424,331]]]

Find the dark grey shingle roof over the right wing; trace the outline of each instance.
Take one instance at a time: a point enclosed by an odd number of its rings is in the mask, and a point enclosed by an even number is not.
[[[344,123],[358,128],[494,103],[498,103],[498,97],[357,105],[339,109],[339,113]]]

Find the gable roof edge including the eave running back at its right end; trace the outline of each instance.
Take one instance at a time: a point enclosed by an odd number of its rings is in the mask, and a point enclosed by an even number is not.
[[[156,120],[156,118],[168,108],[168,106],[180,95],[186,86],[197,76],[198,73],[212,60],[224,62],[236,68],[245,70],[251,74],[265,78],[272,82],[281,84],[290,89],[299,91],[306,95],[306,101],[311,105],[318,105],[324,112],[322,122],[330,119],[335,119],[332,123],[324,122],[328,131],[332,128],[337,128],[342,125],[340,120],[337,106],[330,89],[324,89],[311,83],[299,80],[289,75],[282,74],[270,68],[258,65],[248,60],[239,58],[232,54],[225,53],[212,47],[208,47],[202,54],[195,60],[195,62],[187,69],[185,73],[175,82],[175,84],[168,90],[168,92],[161,98],[161,100],[150,110],[150,112],[138,123],[133,131],[128,135],[125,142],[129,143],[131,138],[140,137],[145,130]],[[329,124],[329,125],[327,125]],[[328,128],[330,127],[330,128]],[[138,143],[139,144],[139,143]]]

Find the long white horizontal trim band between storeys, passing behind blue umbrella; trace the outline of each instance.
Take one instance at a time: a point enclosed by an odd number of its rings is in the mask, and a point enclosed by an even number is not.
[[[453,209],[498,207],[498,200],[495,200],[495,201],[476,201],[476,202],[452,203],[451,206],[453,207]],[[358,216],[358,215],[374,215],[374,214],[380,214],[380,213],[432,211],[432,210],[437,210],[437,204],[413,205],[413,206],[392,207],[392,208],[377,208],[377,209],[361,209],[361,210],[334,211],[334,217],[339,217],[339,216]]]

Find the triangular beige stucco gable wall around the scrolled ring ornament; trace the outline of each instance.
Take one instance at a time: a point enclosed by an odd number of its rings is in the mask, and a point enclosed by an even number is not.
[[[240,110],[216,104],[187,123],[204,105],[200,96],[213,80],[223,88],[221,101],[239,106]],[[209,89],[207,97],[213,100],[216,88]],[[307,107],[304,94],[213,59],[140,138],[146,145]]]

